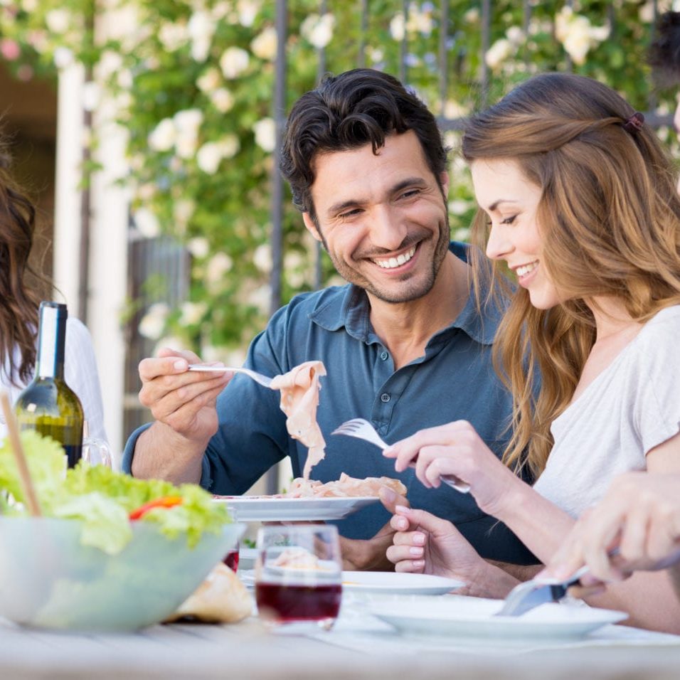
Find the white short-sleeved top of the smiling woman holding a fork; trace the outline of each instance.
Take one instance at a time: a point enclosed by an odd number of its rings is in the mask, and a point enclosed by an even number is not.
[[[680,431],[680,305],[666,307],[558,418],[534,489],[576,517]]]

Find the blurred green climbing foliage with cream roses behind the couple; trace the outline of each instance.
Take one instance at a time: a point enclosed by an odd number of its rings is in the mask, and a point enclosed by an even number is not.
[[[365,65],[399,75],[403,33],[408,84],[442,119],[471,112],[485,94],[481,6],[449,2],[442,99],[440,3],[411,1],[404,17],[402,0],[369,0],[363,32],[358,0],[328,0],[326,21],[332,25],[324,34],[319,26],[314,31],[320,3],[290,0],[287,105],[317,82],[321,46],[331,72],[361,63],[363,46]],[[663,9],[670,6],[659,3]],[[119,11],[132,13],[132,29],[110,37],[102,27],[115,24],[112,13]],[[652,18],[652,2],[644,0],[536,0],[528,6],[494,1],[486,101],[530,73],[570,69],[615,87],[639,110],[647,111],[654,101],[665,115],[674,99],[654,95],[650,100],[645,64]],[[129,135],[126,181],[134,188],[133,215],[140,221],[142,214],[147,220],[152,216],[162,233],[186,243],[193,254],[189,304],[164,310],[147,336],[171,333],[209,358],[243,348],[268,312],[272,151],[257,143],[255,129],[262,121],[271,129],[275,64],[271,40],[262,38],[265,45],[259,48],[253,41],[263,34],[271,38],[274,21],[272,0],[0,0],[0,46],[18,77],[26,78],[30,69],[55,78],[58,68],[79,61],[90,69],[100,100],[115,101]],[[204,40],[203,53],[197,54],[197,41],[206,33],[207,45]],[[234,47],[248,55],[248,64],[231,77],[222,60]],[[216,90],[227,92],[218,105]],[[189,144],[189,153],[178,154],[176,147],[153,148],[150,137],[159,124],[186,110],[201,113],[193,149]],[[666,128],[659,135],[666,141],[672,137]],[[447,142],[455,147],[455,132],[447,132]],[[90,144],[96,147],[96,137]],[[228,149],[214,171],[201,169],[199,149],[205,144]],[[299,213],[287,203],[285,300],[313,287],[315,256]],[[474,201],[455,154],[450,208],[452,233],[464,238]],[[324,279],[334,279],[325,258]]]

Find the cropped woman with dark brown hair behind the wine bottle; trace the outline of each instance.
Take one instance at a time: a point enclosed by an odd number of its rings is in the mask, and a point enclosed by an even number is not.
[[[12,402],[33,378],[38,334],[38,288],[51,289],[29,257],[36,207],[9,172],[10,157],[0,142],[0,389]],[[90,334],[78,319],[66,325],[65,379],[83,403],[90,435],[106,439],[97,363]],[[6,425],[0,414],[0,438]]]

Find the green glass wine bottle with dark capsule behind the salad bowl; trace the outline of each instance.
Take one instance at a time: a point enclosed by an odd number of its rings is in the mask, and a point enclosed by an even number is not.
[[[65,304],[41,302],[36,376],[14,405],[21,430],[36,430],[59,442],[73,467],[83,453],[83,406],[64,380]]]

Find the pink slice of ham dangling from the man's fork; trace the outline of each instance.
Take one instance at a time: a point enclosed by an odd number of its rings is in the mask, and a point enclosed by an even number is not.
[[[286,414],[288,434],[307,449],[303,479],[309,479],[312,467],[324,458],[326,442],[317,423],[319,376],[326,375],[322,361],[305,361],[282,376],[272,379],[272,390],[281,391],[281,410]]]

